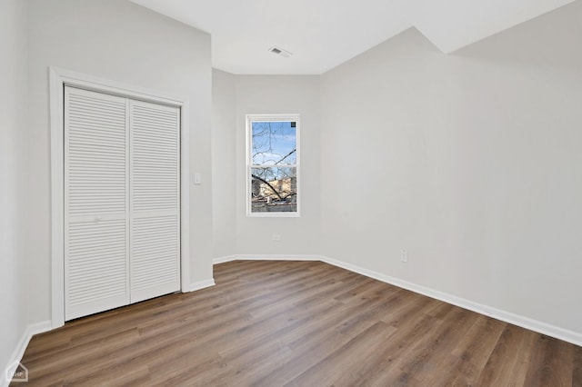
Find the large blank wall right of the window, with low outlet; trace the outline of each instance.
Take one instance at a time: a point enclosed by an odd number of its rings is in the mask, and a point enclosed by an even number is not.
[[[580,20],[453,55],[408,30],[324,74],[323,253],[582,334]]]

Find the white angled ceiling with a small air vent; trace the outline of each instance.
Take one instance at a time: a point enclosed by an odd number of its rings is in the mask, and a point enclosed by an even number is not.
[[[573,0],[131,1],[212,35],[218,69],[322,74],[410,27],[448,54]]]

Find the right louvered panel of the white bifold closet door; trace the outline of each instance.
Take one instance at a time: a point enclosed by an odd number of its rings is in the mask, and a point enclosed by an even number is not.
[[[180,289],[180,111],[131,101],[131,301]]]

